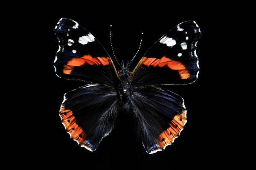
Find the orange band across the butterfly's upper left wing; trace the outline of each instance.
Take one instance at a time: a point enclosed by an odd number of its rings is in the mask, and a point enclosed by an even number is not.
[[[71,74],[75,66],[79,67],[85,63],[89,65],[109,65],[109,57],[92,57],[90,54],[84,55],[83,57],[74,57],[67,65],[64,65],[63,73]]]

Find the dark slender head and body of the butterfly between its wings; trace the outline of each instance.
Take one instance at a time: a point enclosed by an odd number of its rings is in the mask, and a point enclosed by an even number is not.
[[[129,62],[127,62],[126,66],[124,66],[123,61],[121,64],[122,64],[122,69],[118,71],[118,74],[121,80],[118,86],[118,91],[119,91],[120,97],[122,98],[122,103],[126,104],[128,102],[128,99],[130,98],[130,94],[132,91],[131,82],[129,80],[131,71],[129,70]]]

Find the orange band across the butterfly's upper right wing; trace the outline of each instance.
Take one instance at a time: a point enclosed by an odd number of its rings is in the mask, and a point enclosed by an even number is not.
[[[147,58],[147,57],[143,57],[143,58],[144,58],[143,64],[147,65],[148,67],[149,67],[149,65],[152,65],[154,67],[156,67],[156,66],[163,67],[163,66],[167,65],[172,70],[178,70],[178,73],[180,74],[181,79],[188,79],[190,76],[189,71],[186,70],[185,65],[183,65],[181,62],[174,61],[165,56],[163,56],[160,59]]]

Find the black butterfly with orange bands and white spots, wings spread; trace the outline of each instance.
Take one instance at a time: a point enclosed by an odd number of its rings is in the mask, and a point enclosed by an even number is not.
[[[67,92],[61,104],[59,115],[71,139],[94,151],[125,112],[134,116],[147,153],[174,142],[186,124],[186,108],[182,97],[160,85],[190,84],[198,78],[201,31],[195,21],[163,35],[132,72],[123,61],[117,71],[105,48],[76,21],[61,18],[54,33],[56,75],[86,82]]]

